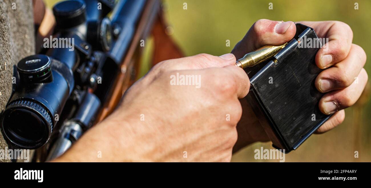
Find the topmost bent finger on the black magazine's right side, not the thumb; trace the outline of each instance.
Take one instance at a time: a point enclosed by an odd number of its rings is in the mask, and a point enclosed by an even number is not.
[[[339,21],[298,22],[313,27],[320,38],[328,38],[328,43],[316,54],[316,64],[325,69],[347,57],[351,49],[353,32],[348,24]]]

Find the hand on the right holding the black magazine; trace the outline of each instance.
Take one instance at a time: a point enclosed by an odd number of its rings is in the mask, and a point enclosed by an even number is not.
[[[361,95],[367,83],[367,73],[363,66],[366,62],[364,50],[352,44],[351,28],[338,21],[298,22],[312,27],[318,37],[328,38],[316,54],[316,64],[323,70],[315,80],[316,88],[326,93],[319,101],[319,109],[325,114],[334,114],[316,133],[326,132],[344,121],[344,109],[352,106]],[[295,23],[258,20],[237,43],[232,53],[237,59],[261,46],[280,45],[289,42],[296,33]],[[328,47],[327,50],[325,50]],[[327,69],[326,69],[327,68]],[[354,82],[355,80],[357,82]],[[247,105],[246,101],[241,101]],[[242,121],[237,130],[239,140],[234,151],[257,141],[269,141],[265,131],[257,121],[252,110],[244,109]],[[248,118],[248,119],[244,119]]]

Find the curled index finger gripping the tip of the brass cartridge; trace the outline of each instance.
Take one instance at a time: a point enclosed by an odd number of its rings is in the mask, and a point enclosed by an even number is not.
[[[246,72],[240,67],[234,65],[226,66],[223,69],[228,71],[228,74],[232,76],[232,83],[236,88],[236,95],[239,99],[244,98],[250,89],[250,80]]]

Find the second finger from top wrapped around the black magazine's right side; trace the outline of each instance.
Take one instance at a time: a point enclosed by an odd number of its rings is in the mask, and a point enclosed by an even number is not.
[[[365,63],[366,53],[353,44],[346,59],[319,73],[315,86],[320,92],[346,88],[354,82]]]

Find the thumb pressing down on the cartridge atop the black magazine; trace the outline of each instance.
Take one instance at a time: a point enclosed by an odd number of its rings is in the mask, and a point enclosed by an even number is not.
[[[295,23],[288,21],[257,20],[232,50],[237,59],[264,45],[281,45],[289,42],[296,33]]]

